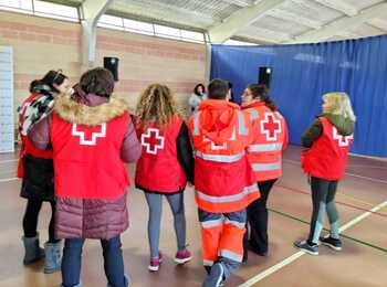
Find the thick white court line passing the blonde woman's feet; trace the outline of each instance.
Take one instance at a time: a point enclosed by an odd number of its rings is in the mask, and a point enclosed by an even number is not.
[[[381,202],[381,203],[379,203],[378,205],[376,205],[372,210],[369,210],[369,211],[367,211],[365,213],[362,213],[357,217],[355,217],[352,221],[347,222],[338,231],[339,232],[344,232],[344,231],[351,228],[352,226],[354,226],[358,222],[360,222],[364,219],[368,217],[370,214],[373,214],[373,212],[377,212],[378,210],[381,210],[384,206],[387,206],[387,200]],[[291,264],[292,262],[299,259],[304,254],[306,254],[306,253],[303,252],[303,251],[299,251],[297,253],[294,253],[292,256],[290,256],[290,257],[283,259],[282,262],[271,266],[269,269],[265,269],[264,272],[255,275],[254,277],[252,277],[251,279],[247,280],[245,283],[239,285],[238,287],[250,287],[250,286],[253,286],[254,284],[257,284],[258,281],[264,279],[269,275],[272,275],[273,273],[278,272],[279,269],[281,269],[281,268],[285,267],[286,265]]]

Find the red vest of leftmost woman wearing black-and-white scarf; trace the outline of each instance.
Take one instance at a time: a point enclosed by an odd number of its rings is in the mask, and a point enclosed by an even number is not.
[[[29,107],[32,100],[34,100],[39,96],[38,93],[32,93],[23,104],[21,105],[21,109],[19,111],[19,125],[22,126],[24,123],[25,109]],[[21,139],[21,148],[19,153],[19,163],[18,163],[18,178],[24,177],[24,166],[23,166],[23,157],[25,155],[31,155],[34,158],[40,159],[52,159],[52,150],[40,150],[36,149],[32,141],[29,139],[27,135],[22,135],[21,130],[19,131]]]

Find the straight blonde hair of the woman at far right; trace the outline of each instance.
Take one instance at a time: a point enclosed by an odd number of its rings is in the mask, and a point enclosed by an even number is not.
[[[323,95],[325,102],[324,113],[342,115],[355,121],[356,117],[352,109],[349,97],[346,93],[333,92]]]

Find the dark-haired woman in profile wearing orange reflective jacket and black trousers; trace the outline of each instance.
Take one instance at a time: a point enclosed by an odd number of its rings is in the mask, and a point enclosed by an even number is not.
[[[251,116],[254,141],[249,147],[248,158],[258,180],[261,198],[248,206],[249,232],[244,237],[244,259],[248,249],[258,255],[268,254],[269,193],[282,176],[282,152],[287,147],[287,126],[276,110],[264,85],[251,84],[242,95],[242,108]]]

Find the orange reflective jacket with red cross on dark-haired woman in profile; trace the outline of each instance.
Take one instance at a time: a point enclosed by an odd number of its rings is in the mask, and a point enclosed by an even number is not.
[[[253,126],[254,141],[248,158],[257,180],[266,181],[282,176],[282,151],[287,146],[286,121],[279,111],[272,111],[263,102],[247,107]]]

